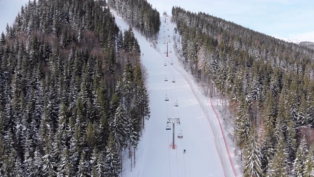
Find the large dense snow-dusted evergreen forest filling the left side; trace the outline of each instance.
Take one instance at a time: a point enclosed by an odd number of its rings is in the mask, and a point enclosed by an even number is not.
[[[1,34],[1,177],[118,177],[122,153],[135,159],[147,76],[105,7],[29,1]]]

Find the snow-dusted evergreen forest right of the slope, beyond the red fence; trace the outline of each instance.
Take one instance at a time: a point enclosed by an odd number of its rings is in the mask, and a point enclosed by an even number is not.
[[[172,8],[185,65],[228,99],[245,177],[313,177],[314,50]],[[216,92],[216,93],[215,93]]]

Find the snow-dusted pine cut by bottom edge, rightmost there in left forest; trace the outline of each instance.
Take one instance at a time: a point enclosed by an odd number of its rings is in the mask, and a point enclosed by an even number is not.
[[[121,172],[121,160],[118,149],[115,145],[113,134],[109,134],[105,156],[105,176],[119,177]]]

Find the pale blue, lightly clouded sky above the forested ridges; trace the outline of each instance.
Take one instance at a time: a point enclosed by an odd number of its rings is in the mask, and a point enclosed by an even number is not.
[[[28,0],[0,0],[0,31]],[[162,15],[172,6],[205,12],[274,37],[314,42],[314,0],[148,0]]]

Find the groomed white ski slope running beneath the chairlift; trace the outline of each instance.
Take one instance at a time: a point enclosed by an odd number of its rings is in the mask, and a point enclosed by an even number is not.
[[[129,29],[122,18],[116,14],[115,18],[122,31]],[[151,118],[146,121],[136,151],[135,168],[133,166],[131,169],[131,160],[125,155],[122,176],[234,177],[215,113],[210,106],[204,111],[207,103],[200,101],[202,93],[195,90],[193,79],[176,58],[173,48],[175,24],[170,23],[170,17],[168,20],[169,25],[161,23],[157,49],[151,47],[145,37],[134,30],[141,52],[144,53],[142,63],[148,73]],[[172,53],[168,53],[168,57],[164,54],[164,39],[171,41],[168,47]],[[165,77],[168,81],[164,81]],[[169,101],[165,101],[166,95]],[[179,106],[175,107],[177,100]],[[167,118],[180,118],[181,124],[175,125],[175,149],[171,147],[172,125],[171,130],[166,130]],[[183,138],[178,139],[181,132]],[[185,154],[183,149],[186,149]]]

